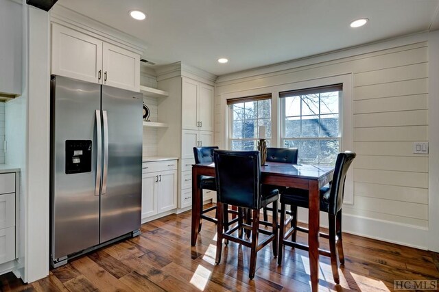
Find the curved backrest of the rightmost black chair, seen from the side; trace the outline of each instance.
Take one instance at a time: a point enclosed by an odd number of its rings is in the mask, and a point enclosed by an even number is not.
[[[346,181],[346,174],[349,166],[354,160],[355,152],[346,151],[337,155],[335,161],[335,169],[331,183],[331,192],[329,194],[329,213],[337,214],[342,209],[344,196],[344,181]]]

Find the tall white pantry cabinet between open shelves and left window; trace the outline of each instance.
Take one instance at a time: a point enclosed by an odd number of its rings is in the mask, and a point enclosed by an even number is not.
[[[186,69],[186,70],[185,70]],[[215,76],[207,72],[174,64],[158,71],[158,88],[169,92],[171,98],[158,105],[159,115],[165,116],[168,129],[158,139],[158,155],[178,159],[178,208],[192,203],[193,147],[213,146],[215,113]],[[196,70],[198,75],[193,74]],[[214,192],[204,194],[204,200]]]

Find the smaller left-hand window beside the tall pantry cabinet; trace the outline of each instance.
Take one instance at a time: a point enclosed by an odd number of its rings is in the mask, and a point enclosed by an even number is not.
[[[271,139],[271,94],[227,100],[230,111],[229,148],[257,150],[259,126],[265,126],[267,146]]]

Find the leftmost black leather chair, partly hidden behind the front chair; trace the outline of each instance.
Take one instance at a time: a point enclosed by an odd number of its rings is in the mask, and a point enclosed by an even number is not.
[[[193,157],[195,158],[195,163],[206,163],[206,162],[213,162],[213,150],[218,149],[217,146],[210,146],[210,147],[193,147]],[[201,176],[200,177],[200,188],[203,189],[209,189],[211,191],[217,190],[217,185],[215,178],[213,176]],[[198,229],[198,232],[201,230],[201,224],[202,220],[207,220],[213,223],[217,223],[217,216],[215,217],[209,217],[208,215],[204,215],[205,213],[208,213],[212,210],[216,210],[217,207],[213,206],[210,208],[203,209],[203,192],[201,191],[201,215],[200,215],[200,227]]]

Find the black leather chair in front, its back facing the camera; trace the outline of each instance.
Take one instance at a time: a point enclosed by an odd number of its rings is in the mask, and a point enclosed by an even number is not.
[[[217,253],[215,263],[219,264],[222,253],[222,240],[230,240],[250,247],[250,279],[254,278],[258,250],[273,241],[273,254],[277,255],[277,212],[273,215],[272,231],[259,229],[260,209],[273,203],[277,209],[278,190],[261,191],[261,162],[259,151],[214,151],[217,183]],[[238,207],[238,223],[223,230],[223,209],[228,204]],[[244,209],[252,211],[250,222],[243,222]],[[251,230],[250,241],[242,239],[242,230]],[[238,236],[233,233],[238,231]],[[259,233],[268,235],[258,243]]]

